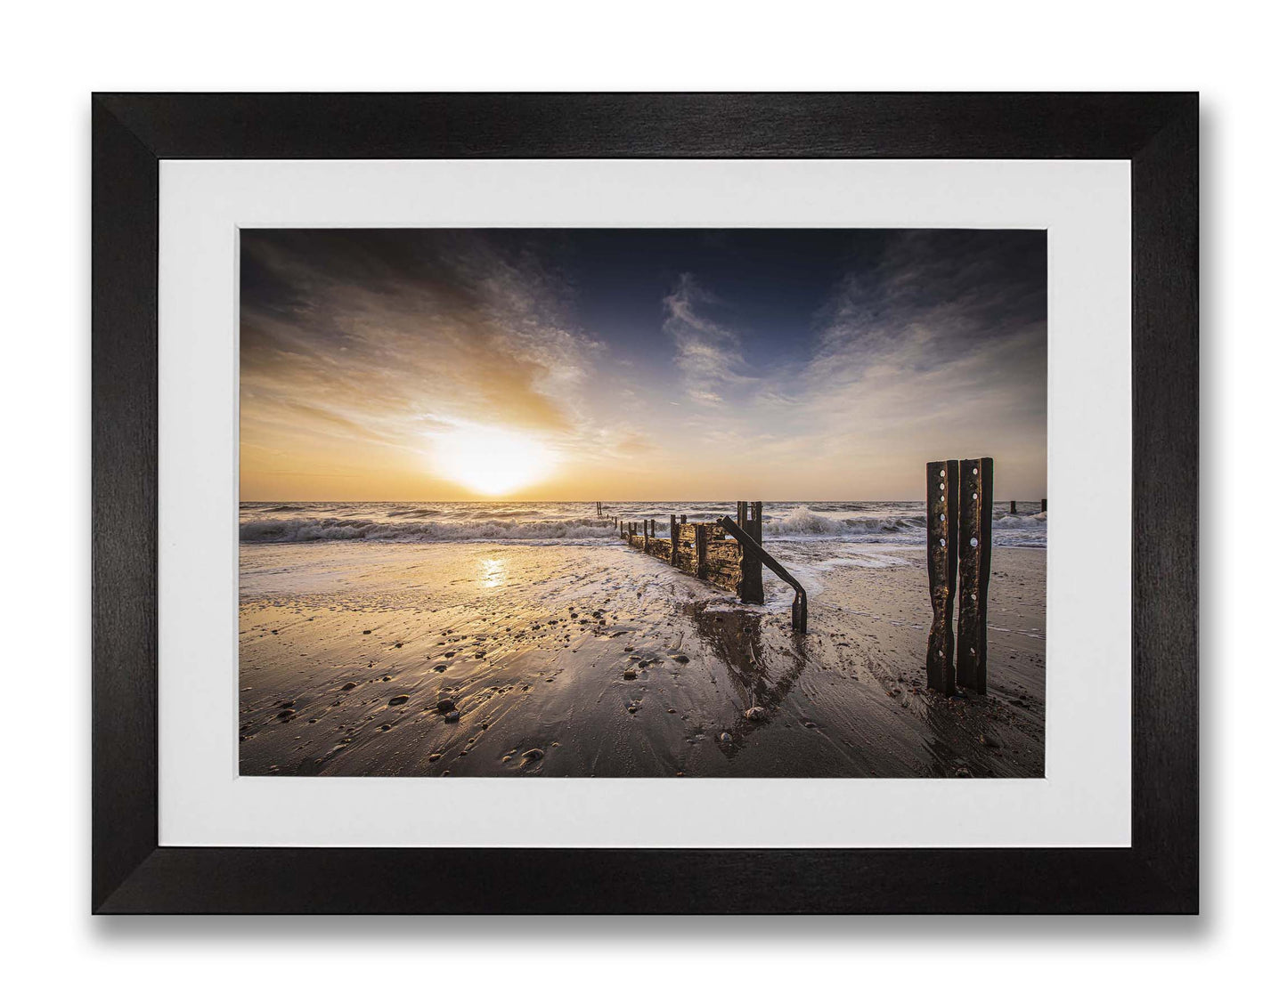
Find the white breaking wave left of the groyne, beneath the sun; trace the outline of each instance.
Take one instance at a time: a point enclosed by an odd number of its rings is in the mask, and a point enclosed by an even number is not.
[[[345,518],[251,520],[241,525],[242,543],[313,543],[380,540],[435,543],[450,540],[589,540],[613,539],[602,520],[480,520],[461,522],[376,522]]]

